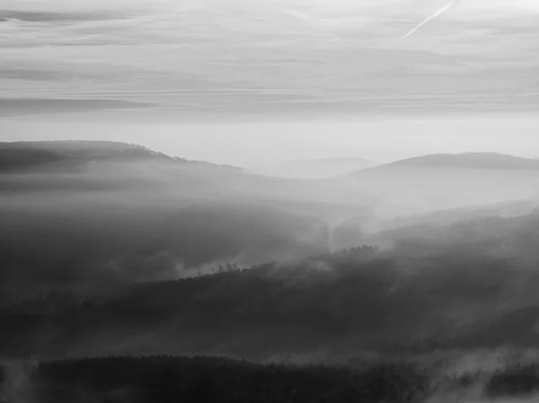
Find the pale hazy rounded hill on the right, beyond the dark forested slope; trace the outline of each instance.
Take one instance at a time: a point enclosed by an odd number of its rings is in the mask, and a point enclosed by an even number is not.
[[[375,197],[384,217],[536,197],[539,161],[496,153],[434,154],[356,171],[341,186]]]

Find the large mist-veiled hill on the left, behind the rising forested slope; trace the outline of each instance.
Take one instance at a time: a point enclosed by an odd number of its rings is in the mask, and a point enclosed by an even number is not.
[[[0,145],[0,303],[328,250],[356,215],[338,187],[191,162],[138,145]],[[28,251],[31,250],[31,253]],[[16,268],[15,268],[16,267]]]

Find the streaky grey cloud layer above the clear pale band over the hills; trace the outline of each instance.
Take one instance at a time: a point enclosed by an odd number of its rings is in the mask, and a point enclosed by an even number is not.
[[[433,96],[447,105],[479,98],[534,106],[539,5],[464,0],[399,40],[443,4],[0,0],[0,86],[8,98],[171,109],[373,99],[427,105]]]

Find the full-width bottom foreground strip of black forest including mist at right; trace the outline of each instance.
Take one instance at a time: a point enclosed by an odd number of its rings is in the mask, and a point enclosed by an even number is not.
[[[343,403],[534,401],[537,364],[450,374],[393,361],[358,367],[252,364],[218,357],[114,356],[0,366],[0,401]],[[527,398],[527,399],[526,399]],[[13,400],[17,399],[17,400]]]

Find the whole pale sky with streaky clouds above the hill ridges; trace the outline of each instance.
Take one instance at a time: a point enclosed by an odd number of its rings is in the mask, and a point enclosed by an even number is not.
[[[267,164],[539,154],[539,2],[0,0],[0,141]]]

